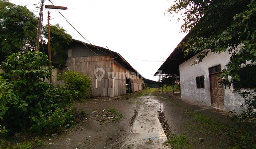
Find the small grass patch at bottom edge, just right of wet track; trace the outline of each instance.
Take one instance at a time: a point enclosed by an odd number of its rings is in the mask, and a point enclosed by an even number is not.
[[[186,136],[181,134],[174,135],[172,138],[167,140],[167,143],[175,149],[191,148]]]

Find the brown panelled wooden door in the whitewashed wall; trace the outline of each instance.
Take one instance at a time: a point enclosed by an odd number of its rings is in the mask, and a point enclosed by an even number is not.
[[[212,105],[224,109],[223,85],[218,83],[218,73],[210,75],[210,92]]]

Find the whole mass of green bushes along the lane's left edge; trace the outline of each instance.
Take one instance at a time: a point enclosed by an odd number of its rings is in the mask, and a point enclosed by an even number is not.
[[[57,131],[72,118],[67,105],[78,97],[74,90],[44,82],[52,76],[47,55],[14,53],[2,62],[0,76],[0,129]],[[68,108],[69,109],[69,108]],[[2,127],[3,126],[3,127]],[[7,128],[5,128],[5,127]]]

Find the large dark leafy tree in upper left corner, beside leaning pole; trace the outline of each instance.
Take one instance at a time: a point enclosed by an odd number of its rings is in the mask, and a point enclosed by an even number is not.
[[[0,61],[18,51],[34,50],[37,18],[26,6],[0,1]]]

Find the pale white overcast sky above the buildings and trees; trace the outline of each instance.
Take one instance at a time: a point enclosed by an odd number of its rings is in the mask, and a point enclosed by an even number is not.
[[[33,4],[39,0],[9,0],[16,5]],[[172,0],[51,0],[66,6],[62,14],[92,44],[121,54],[144,78],[157,81],[154,73],[163,64],[186,34],[179,33],[182,22],[165,11]],[[51,5],[46,0],[45,5]],[[55,10],[48,9],[51,24],[60,26],[74,39],[85,40]],[[47,23],[44,9],[43,23]],[[39,12],[33,11],[36,16]],[[146,61],[142,61],[146,60]]]

